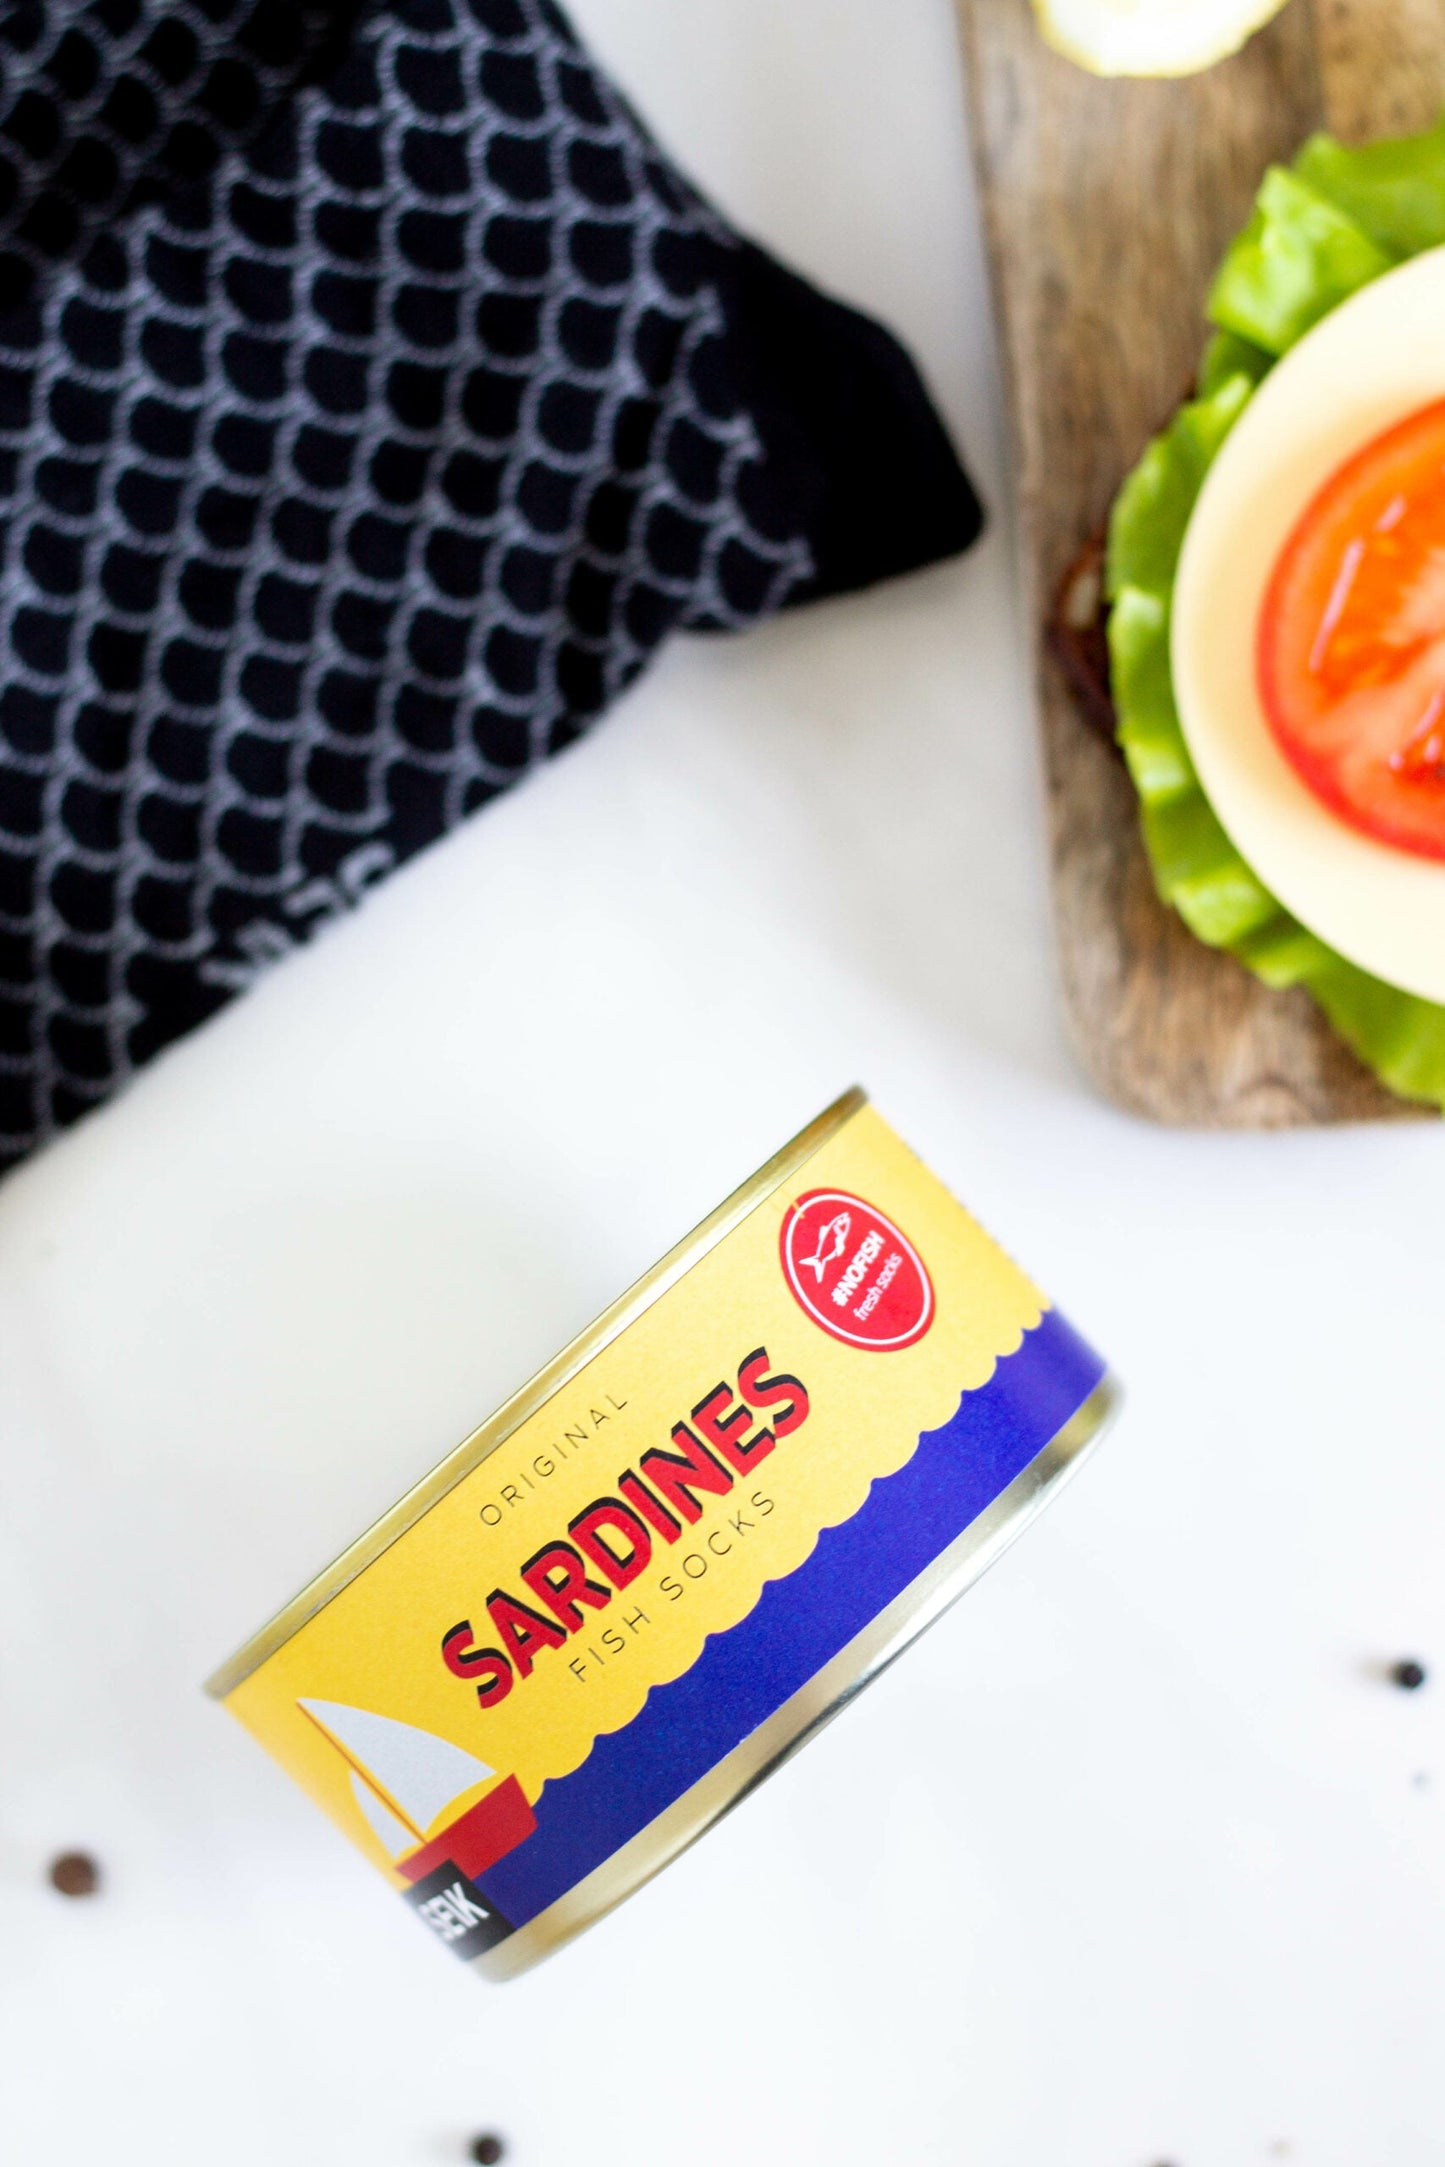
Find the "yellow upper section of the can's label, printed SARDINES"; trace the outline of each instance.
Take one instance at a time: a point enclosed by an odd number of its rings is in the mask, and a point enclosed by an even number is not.
[[[544,1788],[561,1799],[559,1779],[769,1584],[802,1588],[819,1534],[860,1515],[1042,1311],[862,1107],[227,1705],[394,1885],[446,1861],[446,1831],[492,1794],[511,1835],[472,1814],[464,1870],[479,1879],[518,1827],[522,1859]],[[830,1599],[808,1593],[810,1632]],[[754,1684],[717,1690],[756,1712]],[[639,1812],[656,1805],[659,1736]]]

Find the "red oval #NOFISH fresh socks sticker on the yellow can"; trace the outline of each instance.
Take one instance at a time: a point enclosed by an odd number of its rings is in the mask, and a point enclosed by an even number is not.
[[[934,1281],[890,1218],[847,1190],[808,1190],[782,1222],[802,1309],[851,1348],[910,1348],[934,1322]]]

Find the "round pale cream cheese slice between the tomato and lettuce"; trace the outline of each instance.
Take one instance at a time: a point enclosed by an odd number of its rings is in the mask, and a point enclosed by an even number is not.
[[[1445,1003],[1445,862],[1348,828],[1274,743],[1254,676],[1274,561],[1330,475],[1445,397],[1445,249],[1361,288],[1276,362],[1205,477],[1174,583],[1170,667],[1231,843],[1313,934]]]

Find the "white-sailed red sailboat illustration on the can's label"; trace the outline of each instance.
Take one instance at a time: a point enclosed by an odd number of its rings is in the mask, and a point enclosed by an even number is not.
[[[438,1868],[474,1881],[537,1827],[513,1775],[494,1781],[494,1768],[435,1731],[342,1701],[297,1708],[347,1762],[370,1833],[412,1883]]]

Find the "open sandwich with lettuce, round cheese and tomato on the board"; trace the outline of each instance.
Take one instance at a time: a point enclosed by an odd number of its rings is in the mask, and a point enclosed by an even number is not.
[[[1055,646],[1161,899],[1445,1110],[1445,119],[1272,167],[1207,316]]]

